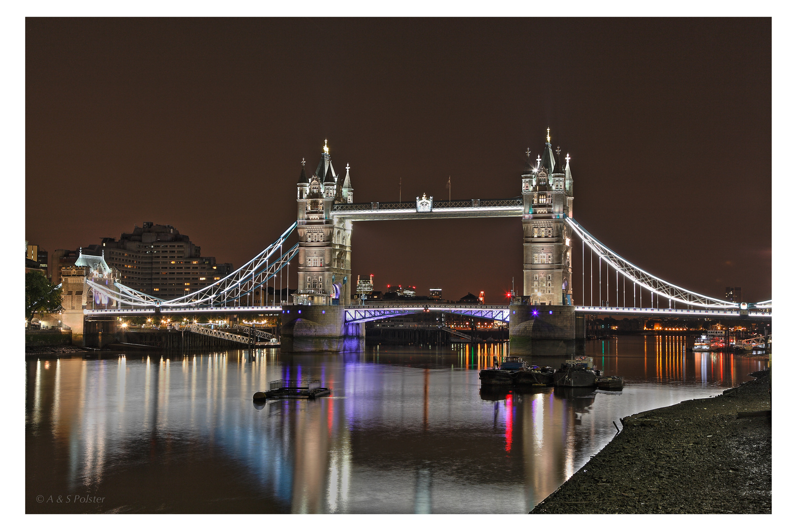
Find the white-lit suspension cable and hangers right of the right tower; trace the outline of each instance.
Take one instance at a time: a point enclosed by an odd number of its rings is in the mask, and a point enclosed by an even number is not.
[[[567,225],[569,225],[573,232],[578,235],[582,240],[582,271],[583,268],[583,244],[587,244],[587,247],[591,249],[592,252],[595,252],[596,255],[599,257],[599,293],[600,299],[603,301],[603,272],[601,271],[600,264],[601,262],[605,261],[607,266],[611,266],[614,268],[616,273],[623,275],[625,278],[630,279],[634,286],[638,285],[641,288],[645,288],[646,290],[650,291],[650,305],[653,306],[653,295],[662,296],[673,303],[682,303],[689,306],[701,306],[703,308],[738,308],[738,303],[730,303],[727,300],[723,299],[715,299],[714,297],[709,297],[708,295],[701,295],[694,291],[689,291],[683,287],[676,286],[673,283],[669,283],[666,280],[662,280],[655,275],[650,274],[649,272],[642,269],[642,267],[638,267],[634,264],[631,264],[628,260],[619,256],[616,252],[612,251],[606,245],[602,244],[595,236],[592,236],[585,228],[579,225],[571,217],[566,217],[565,221],[567,221]],[[590,260],[590,271],[592,271],[592,260]],[[607,290],[609,289],[609,279],[608,279],[608,267],[607,267]],[[590,276],[592,273],[590,273]],[[623,283],[623,290],[625,290],[625,283]],[[625,293],[623,293],[625,295]],[[642,295],[642,291],[640,290],[640,295]],[[591,296],[591,295],[590,295]],[[607,292],[607,299],[608,299],[608,292]],[[583,291],[582,291],[583,297]],[[619,287],[617,288],[617,297],[619,299]],[[641,302],[640,297],[640,302]],[[582,303],[586,303],[583,301]],[[771,299],[767,301],[761,301],[760,303],[754,303],[752,306],[756,308],[771,308]],[[602,303],[603,305],[603,303]],[[592,306],[592,301],[591,301]],[[636,306],[636,289],[634,288],[634,306]]]

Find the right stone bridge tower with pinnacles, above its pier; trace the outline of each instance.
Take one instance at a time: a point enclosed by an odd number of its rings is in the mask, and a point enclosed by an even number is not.
[[[523,178],[523,295],[533,305],[571,305],[571,235],[565,217],[573,216],[570,156],[562,166],[548,129],[543,157],[532,166],[526,150]]]

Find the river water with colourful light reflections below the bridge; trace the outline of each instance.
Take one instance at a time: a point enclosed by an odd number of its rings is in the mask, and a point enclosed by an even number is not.
[[[505,344],[29,358],[26,511],[527,513],[612,439],[613,421],[766,366],[688,342],[587,342],[622,392],[483,392],[478,370]],[[308,377],[332,396],[252,402],[269,381]]]

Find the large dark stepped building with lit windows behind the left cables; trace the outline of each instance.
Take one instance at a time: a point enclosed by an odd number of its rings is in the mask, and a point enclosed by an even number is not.
[[[188,295],[232,269],[232,264],[217,264],[213,256],[201,256],[199,246],[171,225],[151,221],[123,233],[118,241],[103,238],[88,249],[120,271],[120,283],[159,299]]]

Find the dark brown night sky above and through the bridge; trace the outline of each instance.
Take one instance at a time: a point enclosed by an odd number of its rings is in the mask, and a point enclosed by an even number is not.
[[[769,18],[29,18],[25,45],[25,236],[50,252],[154,221],[239,267],[296,220],[324,139],[355,202],[398,201],[399,179],[447,199],[449,176],[487,199],[520,196],[550,127],[604,244],[705,295],[772,296]],[[352,240],[379,290],[522,286],[519,218]]]

